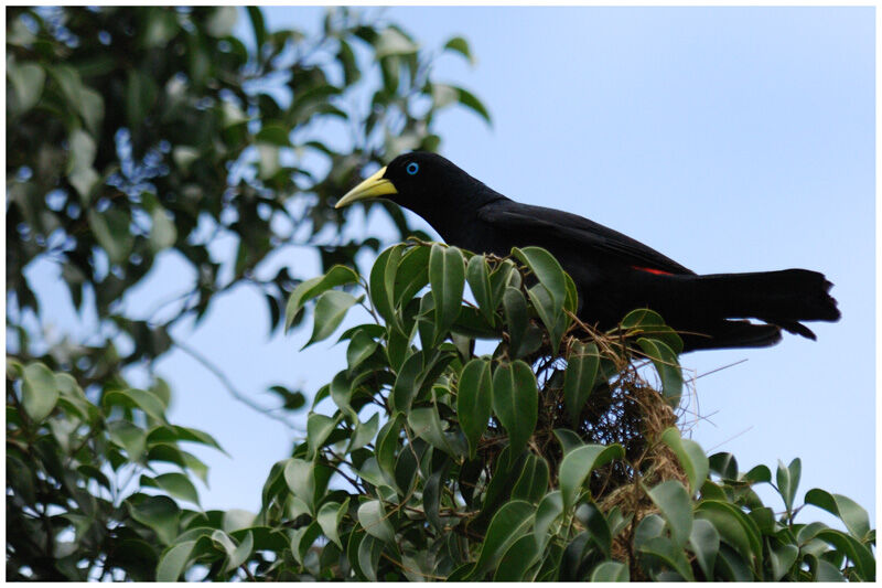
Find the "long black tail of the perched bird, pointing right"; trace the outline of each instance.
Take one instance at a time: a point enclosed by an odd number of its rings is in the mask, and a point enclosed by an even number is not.
[[[832,284],[817,271],[711,274],[692,280],[689,296],[709,317],[755,318],[814,340],[800,321],[837,321],[841,316],[828,293]]]

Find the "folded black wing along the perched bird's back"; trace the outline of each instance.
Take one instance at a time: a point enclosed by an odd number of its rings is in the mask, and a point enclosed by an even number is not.
[[[544,242],[557,243],[576,250],[616,257],[641,269],[695,274],[627,235],[568,212],[505,199],[482,206],[477,216],[498,231],[529,235],[536,245]]]

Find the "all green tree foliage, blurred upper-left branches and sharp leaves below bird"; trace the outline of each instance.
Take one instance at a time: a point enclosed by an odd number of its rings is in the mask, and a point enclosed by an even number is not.
[[[536,247],[413,239],[359,271],[379,244],[341,240],[335,199],[364,168],[437,148],[439,108],[487,113],[394,24],[337,10],[312,39],[247,14],[255,51],[226,8],[8,12],[8,579],[875,578],[867,512],[821,489],[799,500],[798,459],[742,471],[680,434],[689,383],[662,317],[581,324],[572,280]],[[442,51],[471,58],[460,38]],[[235,259],[216,257],[220,235]],[[286,245],[315,247],[323,274],[266,275]],[[127,313],[171,252],[193,284],[171,312]],[[40,259],[98,318],[88,343],[41,333]],[[187,445],[222,449],[169,421],[151,367],[174,323],[238,285],[266,295],[270,329],[311,317],[308,345],[346,345],[255,513],[200,506]],[[797,521],[806,504],[845,531]]]

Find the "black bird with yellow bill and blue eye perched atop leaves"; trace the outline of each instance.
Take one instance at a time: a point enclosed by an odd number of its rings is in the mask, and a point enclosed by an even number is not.
[[[512,247],[544,247],[576,282],[585,323],[610,329],[628,311],[650,308],[681,333],[685,351],[773,345],[781,341],[781,329],[814,340],[799,321],[840,317],[827,293],[832,284],[822,274],[784,269],[699,276],[588,218],[514,202],[434,153],[395,158],[336,207],[372,197],[413,211],[447,243],[471,252],[506,256]]]

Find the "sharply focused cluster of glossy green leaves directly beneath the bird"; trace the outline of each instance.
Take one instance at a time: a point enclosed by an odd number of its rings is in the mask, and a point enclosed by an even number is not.
[[[352,285],[364,293],[340,290]],[[474,302],[464,301],[466,285]],[[852,501],[820,489],[804,499],[838,516],[845,532],[796,522],[798,459],[779,464],[773,482],[765,466],[740,472],[733,456],[708,457],[670,419],[653,420],[673,415],[682,389],[678,336],[660,318],[638,310],[617,330],[598,333],[576,320],[570,290],[539,248],[499,259],[422,243],[386,249],[366,278],[332,268],[295,289],[289,317],[315,301],[308,344],[330,338],[358,306],[374,320],[340,335],[347,365],[318,392],[305,439],[265,483],[247,533],[279,534],[284,547],[269,557],[243,538],[237,548],[256,558],[250,574],[372,581],[875,577],[875,533]],[[537,377],[551,359],[562,376]],[[634,385],[635,364],[656,372],[660,391]],[[616,385],[639,399],[645,427],[636,452],[627,440],[592,440],[581,420],[595,394]],[[552,411],[557,420],[541,418]],[[779,512],[754,491],[763,483],[779,493]],[[176,541],[160,566],[227,560],[196,544],[179,547],[186,542],[193,536]]]

